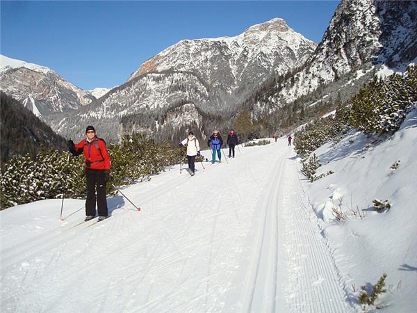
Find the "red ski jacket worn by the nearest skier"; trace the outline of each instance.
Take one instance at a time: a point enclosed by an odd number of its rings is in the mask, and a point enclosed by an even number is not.
[[[92,170],[110,170],[111,161],[106,149],[106,142],[95,137],[91,143],[83,139],[76,146],[77,152],[84,152],[84,166]]]

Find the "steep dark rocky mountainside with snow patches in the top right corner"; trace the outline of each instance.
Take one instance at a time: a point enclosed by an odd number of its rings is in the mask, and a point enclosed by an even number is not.
[[[353,80],[361,77],[355,71],[370,72],[378,64],[403,68],[416,57],[416,1],[343,0],[309,66],[275,86],[272,102],[293,102],[348,73]]]

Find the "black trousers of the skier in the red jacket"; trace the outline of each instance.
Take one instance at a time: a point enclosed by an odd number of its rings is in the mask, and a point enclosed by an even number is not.
[[[106,200],[106,175],[104,170],[85,169],[87,177],[87,200],[85,201],[85,215],[95,216],[96,190],[99,216],[108,216]]]

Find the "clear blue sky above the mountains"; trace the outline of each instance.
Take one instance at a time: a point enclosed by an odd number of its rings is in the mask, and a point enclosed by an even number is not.
[[[83,89],[126,81],[183,39],[243,33],[274,17],[314,42],[339,1],[1,1],[1,54]]]

